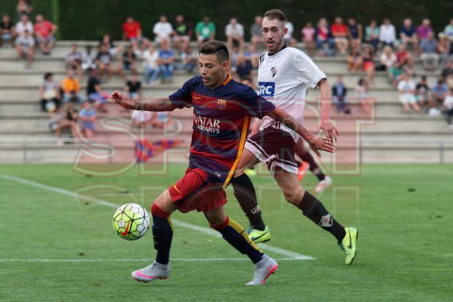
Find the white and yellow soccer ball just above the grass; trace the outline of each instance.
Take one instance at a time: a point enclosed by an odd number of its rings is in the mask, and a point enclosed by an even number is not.
[[[113,214],[113,229],[125,240],[137,240],[150,228],[150,216],[137,203],[121,205]]]

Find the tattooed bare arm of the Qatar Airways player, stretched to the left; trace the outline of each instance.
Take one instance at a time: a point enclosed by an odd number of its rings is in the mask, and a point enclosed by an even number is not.
[[[174,109],[178,108],[172,102],[170,102],[168,98],[134,102],[119,91],[113,91],[110,99],[113,103],[116,103],[125,109],[142,111],[174,111]]]

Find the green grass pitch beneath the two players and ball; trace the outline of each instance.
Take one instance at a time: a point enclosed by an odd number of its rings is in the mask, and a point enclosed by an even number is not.
[[[268,244],[314,260],[268,251],[281,259],[279,271],[265,286],[247,287],[253,264],[244,255],[175,225],[172,275],[137,283],[130,272],[155,255],[151,230],[141,240],[121,240],[111,224],[115,209],[67,192],[149,209],[184,170],[99,178],[71,165],[0,165],[0,301],[453,301],[453,165],[364,165],[358,176],[334,176],[320,199],[342,224],[359,229],[352,266],[334,237],[285,202],[271,178],[255,176]],[[316,180],[310,175],[303,184],[312,188]],[[229,216],[248,227],[231,188],[227,196]],[[201,213],[172,218],[208,227]]]

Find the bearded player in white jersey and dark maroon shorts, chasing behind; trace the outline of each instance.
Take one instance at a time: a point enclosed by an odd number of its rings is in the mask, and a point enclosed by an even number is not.
[[[266,51],[259,58],[259,95],[287,111],[303,124],[303,109],[307,86],[321,90],[321,124],[327,137],[334,141],[338,131],[330,120],[330,86],[325,73],[299,49],[288,47],[283,41],[288,29],[286,16],[281,10],[269,10],[264,14],[262,32]],[[242,210],[251,222],[248,231],[255,242],[270,240],[258,206],[255,188],[244,174],[246,168],[259,162],[268,166],[286,200],[298,207],[303,215],[319,227],[332,233],[346,254],[345,263],[352,264],[356,257],[358,231],[342,227],[310,192],[305,191],[297,176],[298,165],[294,148],[300,137],[280,122],[265,117],[260,131],[247,139],[238,164],[233,184],[234,194]],[[318,156],[319,152],[317,152]]]

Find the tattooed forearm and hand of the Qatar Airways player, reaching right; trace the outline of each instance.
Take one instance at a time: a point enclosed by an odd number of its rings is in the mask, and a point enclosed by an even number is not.
[[[318,150],[324,150],[330,153],[336,151],[334,143],[332,143],[332,139],[330,138],[323,138],[318,135],[312,135],[305,129],[292,115],[288,115],[286,111],[283,111],[279,108],[275,108],[274,111],[270,111],[267,113],[268,116],[272,117],[276,121],[280,121],[281,124],[287,126],[288,128],[297,132],[307,143],[310,145],[310,148],[319,156],[321,157],[321,153]]]

